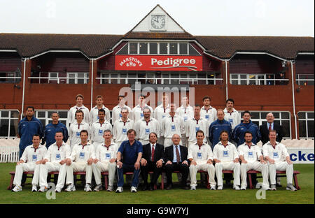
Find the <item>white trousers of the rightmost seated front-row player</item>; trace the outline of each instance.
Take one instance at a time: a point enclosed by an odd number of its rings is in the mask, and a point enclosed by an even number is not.
[[[293,164],[288,164],[288,162],[278,162],[271,164],[268,162],[269,166],[269,177],[270,184],[276,184],[276,170],[286,171],[286,182],[287,184],[292,184],[293,181]]]

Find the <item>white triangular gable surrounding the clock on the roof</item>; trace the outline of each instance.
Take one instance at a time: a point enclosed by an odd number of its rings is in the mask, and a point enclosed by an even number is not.
[[[169,17],[167,13],[165,13],[165,10],[163,10],[159,5],[156,6],[151,13],[146,15],[144,20],[142,20],[139,24],[137,24],[132,31],[146,31],[146,32],[160,32],[159,30],[154,30],[151,28],[151,15],[165,15],[166,25],[165,29],[160,30],[162,32],[179,32],[183,33],[184,29],[179,26],[179,24],[176,24],[176,22],[173,20],[172,17]]]

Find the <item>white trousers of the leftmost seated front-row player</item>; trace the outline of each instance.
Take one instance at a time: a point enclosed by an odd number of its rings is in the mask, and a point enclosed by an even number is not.
[[[34,162],[31,163],[20,163],[15,167],[15,176],[13,180],[13,184],[21,185],[23,172],[34,172],[33,180],[31,180],[31,184],[37,185],[39,181],[39,166],[41,164],[36,164]]]

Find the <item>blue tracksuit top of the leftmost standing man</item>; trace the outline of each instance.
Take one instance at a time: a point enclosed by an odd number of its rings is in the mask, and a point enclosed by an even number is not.
[[[18,133],[21,138],[19,147],[20,149],[25,149],[28,145],[33,144],[31,140],[35,134],[38,134],[43,138],[43,124],[41,124],[41,121],[34,116],[31,117],[30,121],[25,117],[19,122]]]

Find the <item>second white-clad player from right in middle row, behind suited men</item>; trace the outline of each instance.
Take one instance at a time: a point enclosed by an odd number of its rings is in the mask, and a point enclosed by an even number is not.
[[[170,104],[169,115],[164,117],[161,126],[161,136],[164,136],[164,147],[173,145],[172,137],[174,134],[179,136],[185,133],[185,124],[183,118],[176,115],[176,104]],[[182,145],[182,143],[180,143]]]

